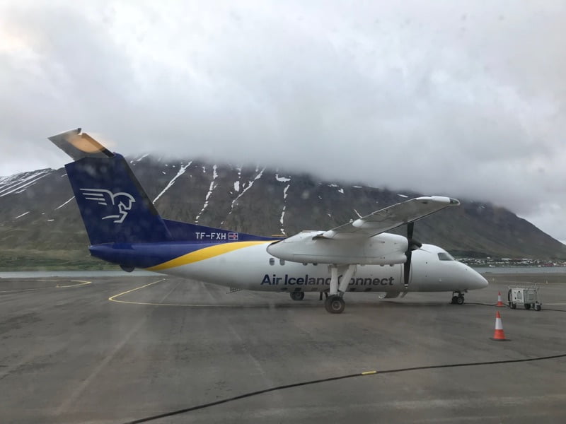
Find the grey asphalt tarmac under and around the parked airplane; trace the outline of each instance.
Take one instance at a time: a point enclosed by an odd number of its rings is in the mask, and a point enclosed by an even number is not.
[[[167,276],[3,278],[0,422],[566,422],[566,276],[485,277],[464,305],[347,293],[336,315]],[[495,307],[528,281],[543,310]]]

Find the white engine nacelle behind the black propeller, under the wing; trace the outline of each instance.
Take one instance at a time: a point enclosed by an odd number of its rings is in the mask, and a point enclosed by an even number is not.
[[[407,261],[408,241],[383,232],[374,237],[329,240],[320,231],[299,232],[267,246],[272,256],[286,261],[314,264],[392,265]]]

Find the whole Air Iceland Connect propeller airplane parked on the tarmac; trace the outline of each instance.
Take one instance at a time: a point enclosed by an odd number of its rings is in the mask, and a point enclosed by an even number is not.
[[[464,293],[487,281],[446,250],[412,237],[415,221],[460,202],[422,196],[330,230],[282,239],[162,218],[125,158],[73,129],[49,137],[74,160],[65,165],[91,245],[91,256],[124,271],[145,269],[224,285],[287,292],[292,300],[325,292],[325,309],[345,310],[347,292]],[[386,231],[407,225],[407,237]],[[322,296],[322,294],[320,294]]]

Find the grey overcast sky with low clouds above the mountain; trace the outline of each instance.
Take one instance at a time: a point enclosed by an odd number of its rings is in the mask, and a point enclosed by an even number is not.
[[[566,240],[565,1],[0,0],[0,175],[120,153],[492,201]]]

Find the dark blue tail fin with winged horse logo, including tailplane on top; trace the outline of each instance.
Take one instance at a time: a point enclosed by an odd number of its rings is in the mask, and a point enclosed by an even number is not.
[[[50,137],[74,162],[65,165],[91,245],[171,240],[122,155],[111,153],[81,129]]]

